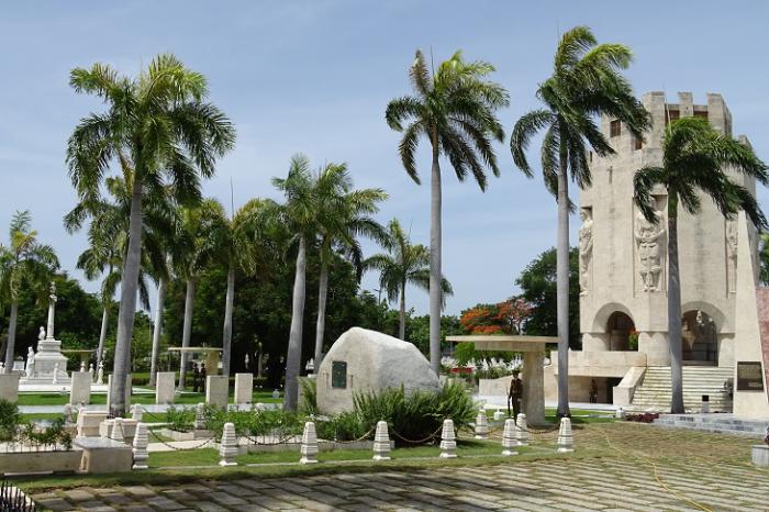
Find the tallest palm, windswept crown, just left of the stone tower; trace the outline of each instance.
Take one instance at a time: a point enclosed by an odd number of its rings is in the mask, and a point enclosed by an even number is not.
[[[591,182],[588,146],[599,156],[614,149],[601,134],[595,116],[618,119],[638,138],[649,126],[649,115],[633,97],[633,89],[621,75],[632,59],[621,44],[601,44],[586,26],[566,32],[556,49],[553,75],[537,89],[544,109],[524,114],[513,129],[510,149],[515,165],[530,178],[534,172],[526,160],[532,137],[545,130],[542,169],[547,189],[558,203],[556,279],[558,282],[558,416],[569,413],[569,172],[582,188]]]

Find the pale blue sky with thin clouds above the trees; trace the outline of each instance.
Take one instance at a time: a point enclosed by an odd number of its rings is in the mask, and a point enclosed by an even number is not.
[[[377,215],[398,218],[414,243],[428,244],[430,154],[419,153],[423,185],[406,176],[399,134],[384,122],[389,100],[410,92],[408,68],[423,48],[435,62],[462,49],[497,67],[493,79],[511,96],[500,112],[508,133],[538,107],[537,85],[550,74],[558,35],[590,26],[599,42],[628,45],[627,71],[638,96],[691,91],[723,94],[735,134],[746,134],[769,160],[769,3],[754,1],[35,1],[0,5],[0,243],[2,226],[30,210],[41,241],[75,269],[86,248],[62,218],[76,203],[65,166],[66,141],[78,120],[102,105],[68,85],[74,67],[108,63],[135,75],[159,53],[174,53],[204,74],[210,100],[237,129],[234,151],[204,183],[204,194],[235,207],[254,197],[279,199],[270,186],[292,155],[313,166],[345,162],[356,187],[380,187],[390,199]],[[424,144],[424,143],[423,143]],[[446,312],[516,293],[514,281],[555,245],[556,204],[542,178],[524,177],[506,142],[497,147],[501,176],[483,193],[443,166],[443,270],[454,286]],[[538,148],[531,159],[536,165]],[[572,198],[578,191],[572,188]],[[769,205],[766,189],[759,202]],[[578,218],[571,218],[572,241]],[[378,247],[365,243],[367,254]],[[367,274],[363,288],[378,288]],[[376,292],[375,292],[376,293]],[[409,289],[417,313],[427,294]]]

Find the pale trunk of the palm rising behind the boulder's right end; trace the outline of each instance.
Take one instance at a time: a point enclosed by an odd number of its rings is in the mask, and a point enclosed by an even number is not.
[[[430,202],[430,366],[441,374],[441,165],[437,137],[433,136]]]

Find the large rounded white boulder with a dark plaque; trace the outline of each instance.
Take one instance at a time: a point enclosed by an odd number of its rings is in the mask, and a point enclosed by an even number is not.
[[[437,390],[438,377],[411,343],[353,327],[334,343],[317,371],[317,409],[336,414],[353,409],[353,396],[403,386],[406,394]]]

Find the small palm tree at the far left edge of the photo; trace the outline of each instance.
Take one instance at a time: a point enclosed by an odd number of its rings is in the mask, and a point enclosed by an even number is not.
[[[11,220],[9,244],[0,245],[0,303],[10,307],[5,374],[13,371],[21,288],[47,289],[51,277],[57,268],[58,258],[54,248],[41,244],[37,241],[37,232],[32,230],[30,212],[16,212]]]

